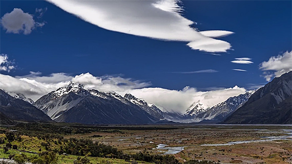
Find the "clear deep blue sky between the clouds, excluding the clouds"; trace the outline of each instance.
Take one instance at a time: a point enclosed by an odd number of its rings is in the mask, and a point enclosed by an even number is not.
[[[182,16],[197,22],[200,31],[226,30],[220,38],[232,45],[226,53],[192,50],[183,41],[164,41],[109,31],[46,1],[1,1],[1,17],[14,8],[36,15],[44,22],[28,35],[7,33],[1,27],[1,54],[15,69],[1,74],[43,76],[66,73],[113,75],[151,82],[151,87],[199,90],[216,87],[248,88],[267,83],[259,64],[291,51],[291,1],[182,1]],[[252,64],[236,64],[235,58],[252,58]],[[244,69],[247,72],[233,71]],[[180,74],[213,69],[214,73]]]

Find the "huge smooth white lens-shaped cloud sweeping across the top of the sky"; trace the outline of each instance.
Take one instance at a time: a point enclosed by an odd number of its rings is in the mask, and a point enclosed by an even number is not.
[[[161,40],[190,42],[194,50],[226,52],[231,44],[214,38],[233,34],[229,31],[198,32],[193,21],[180,13],[178,0],[76,1],[47,0],[100,28]]]

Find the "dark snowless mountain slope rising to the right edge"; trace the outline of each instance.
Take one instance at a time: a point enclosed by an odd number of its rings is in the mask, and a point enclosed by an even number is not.
[[[291,124],[292,72],[258,89],[223,124]]]

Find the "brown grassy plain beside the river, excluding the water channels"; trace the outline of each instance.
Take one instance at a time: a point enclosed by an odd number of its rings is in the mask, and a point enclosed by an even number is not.
[[[147,127],[173,129],[143,130]],[[184,146],[174,154],[180,161],[199,159],[221,163],[292,163],[292,140],[243,143],[229,146],[201,146],[203,144],[226,144],[244,140],[259,140],[265,136],[287,135],[283,129],[291,126],[231,126],[231,125],[144,125],[122,126],[141,127],[142,130],[120,130],[118,133],[92,132],[67,135],[65,137],[87,138],[95,142],[115,146],[126,153],[148,152],[163,154],[167,150],[156,149],[158,144],[169,147]],[[102,137],[92,137],[101,135]]]

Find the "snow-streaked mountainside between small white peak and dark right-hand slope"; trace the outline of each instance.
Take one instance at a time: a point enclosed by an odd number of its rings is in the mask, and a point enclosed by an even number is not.
[[[253,95],[254,92],[255,90],[249,90],[239,96],[228,98],[226,101],[198,114],[196,118],[222,121],[224,120],[225,116],[241,107],[248,100],[248,98]]]

